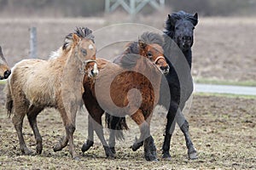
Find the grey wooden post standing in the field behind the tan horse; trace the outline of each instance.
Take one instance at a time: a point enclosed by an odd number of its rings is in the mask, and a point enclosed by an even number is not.
[[[37,59],[37,28],[31,27],[29,29],[30,31],[30,52],[29,52],[29,58],[30,59]]]

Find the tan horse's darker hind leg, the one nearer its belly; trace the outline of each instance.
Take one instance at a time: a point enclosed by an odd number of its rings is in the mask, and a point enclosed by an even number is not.
[[[39,133],[38,130],[38,123],[37,123],[37,116],[39,112],[43,111],[44,108],[38,108],[34,105],[30,106],[29,111],[27,112],[27,118],[28,122],[30,123],[30,126],[32,127],[35,139],[37,141],[37,153],[41,154],[43,150],[43,139]]]

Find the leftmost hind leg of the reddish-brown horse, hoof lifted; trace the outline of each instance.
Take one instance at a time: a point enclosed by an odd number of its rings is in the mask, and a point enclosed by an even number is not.
[[[82,152],[87,151],[90,149],[90,147],[94,144],[94,127],[93,127],[93,119],[90,116],[90,114],[88,115],[88,138],[86,140],[86,142],[84,141],[84,144],[81,148]]]

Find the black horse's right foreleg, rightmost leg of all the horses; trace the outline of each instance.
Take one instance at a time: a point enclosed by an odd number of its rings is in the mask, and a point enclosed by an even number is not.
[[[177,124],[185,137],[189,159],[196,159],[196,150],[189,136],[189,122],[186,120],[180,110],[177,111]]]

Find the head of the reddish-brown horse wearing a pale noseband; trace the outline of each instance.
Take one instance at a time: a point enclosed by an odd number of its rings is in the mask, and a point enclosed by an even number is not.
[[[138,41],[140,55],[150,59],[163,74],[169,72],[169,65],[164,57],[164,50],[158,43],[147,44],[142,40]]]

